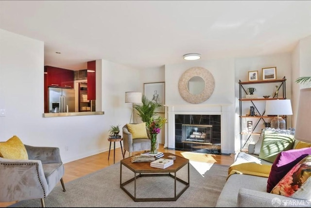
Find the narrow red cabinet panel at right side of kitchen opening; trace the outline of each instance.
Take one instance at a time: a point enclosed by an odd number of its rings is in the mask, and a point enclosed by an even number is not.
[[[96,99],[96,61],[87,62],[87,99]]]

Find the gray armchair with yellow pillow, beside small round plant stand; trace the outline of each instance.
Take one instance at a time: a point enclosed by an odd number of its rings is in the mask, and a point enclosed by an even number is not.
[[[123,156],[125,156],[126,151],[129,152],[130,156],[131,153],[136,151],[150,150],[151,140],[145,122],[124,125],[122,134],[124,147]],[[158,148],[158,141],[156,141],[156,146]]]

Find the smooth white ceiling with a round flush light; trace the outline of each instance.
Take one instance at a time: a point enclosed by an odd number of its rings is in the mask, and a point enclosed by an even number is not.
[[[150,68],[187,62],[186,53],[292,51],[311,35],[311,1],[1,0],[0,29],[44,41],[45,65],[78,70],[104,59]]]

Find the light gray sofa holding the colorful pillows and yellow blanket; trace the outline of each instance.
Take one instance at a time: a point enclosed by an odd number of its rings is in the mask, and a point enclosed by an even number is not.
[[[236,156],[235,163],[256,162],[272,165],[273,163],[258,158],[261,138],[262,134],[256,144],[248,146],[248,153],[240,152]],[[295,141],[294,146],[296,144]],[[311,207],[311,201],[267,192],[267,181],[267,177],[246,174],[229,176],[218,198],[216,207]]]

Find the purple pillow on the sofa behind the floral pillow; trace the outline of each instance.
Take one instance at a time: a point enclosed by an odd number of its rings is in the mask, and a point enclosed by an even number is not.
[[[276,184],[297,164],[300,160],[311,155],[311,147],[290,149],[282,151],[276,156],[268,178],[267,192],[271,192]]]

